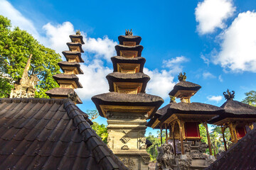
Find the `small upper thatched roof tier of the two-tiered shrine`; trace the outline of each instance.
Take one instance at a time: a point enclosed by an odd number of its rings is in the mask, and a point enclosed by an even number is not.
[[[191,83],[189,81],[179,81],[175,86],[174,89],[169,93],[170,96],[175,96],[177,91],[184,90],[184,91],[198,91],[201,89],[201,86],[198,84]]]

